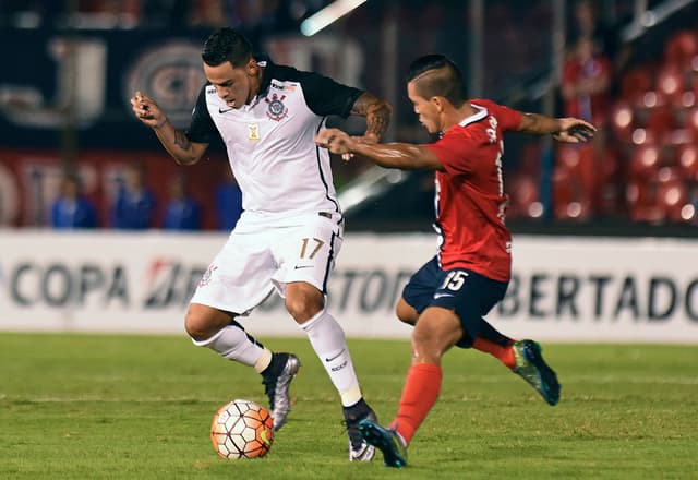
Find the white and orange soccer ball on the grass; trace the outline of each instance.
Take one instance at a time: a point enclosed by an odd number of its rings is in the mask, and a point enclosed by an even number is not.
[[[218,409],[210,441],[222,458],[262,457],[274,441],[274,421],[266,408],[250,400],[232,400]]]

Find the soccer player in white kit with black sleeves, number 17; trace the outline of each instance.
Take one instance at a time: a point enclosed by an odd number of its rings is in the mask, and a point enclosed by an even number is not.
[[[212,34],[202,58],[208,82],[186,132],[174,129],[148,96],[136,92],[131,98],[135,116],[180,165],[197,163],[220,135],[242,190],[244,212],[198,283],[186,333],[195,345],[262,374],[278,430],[289,411],[299,359],[272,352],[236,321],[276,289],[339,392],[349,459],[371,460],[374,447],[361,437],[358,423],[375,415],[363,399],[345,333],[325,309],[344,217],[329,154],[314,139],[327,116],[357,115],[366,119],[362,139],[377,142],[392,108],[370,93],[255,57],[250,41],[232,28]]]

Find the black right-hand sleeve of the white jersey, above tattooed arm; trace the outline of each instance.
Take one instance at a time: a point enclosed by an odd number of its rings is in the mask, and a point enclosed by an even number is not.
[[[359,88],[342,85],[334,80],[313,72],[299,72],[299,81],[308,107],[321,117],[337,115],[349,117],[357,98],[363,94]]]

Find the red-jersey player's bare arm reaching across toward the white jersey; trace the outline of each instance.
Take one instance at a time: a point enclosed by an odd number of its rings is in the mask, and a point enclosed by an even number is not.
[[[360,155],[376,165],[400,170],[441,170],[441,161],[429,148],[410,143],[374,143],[352,137],[338,129],[326,129],[317,134],[315,143],[347,160]]]

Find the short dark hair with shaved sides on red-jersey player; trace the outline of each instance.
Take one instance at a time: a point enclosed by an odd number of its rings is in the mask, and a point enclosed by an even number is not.
[[[407,74],[414,82],[417,93],[424,98],[444,97],[460,107],[468,94],[458,67],[443,55],[425,55],[414,60]]]

